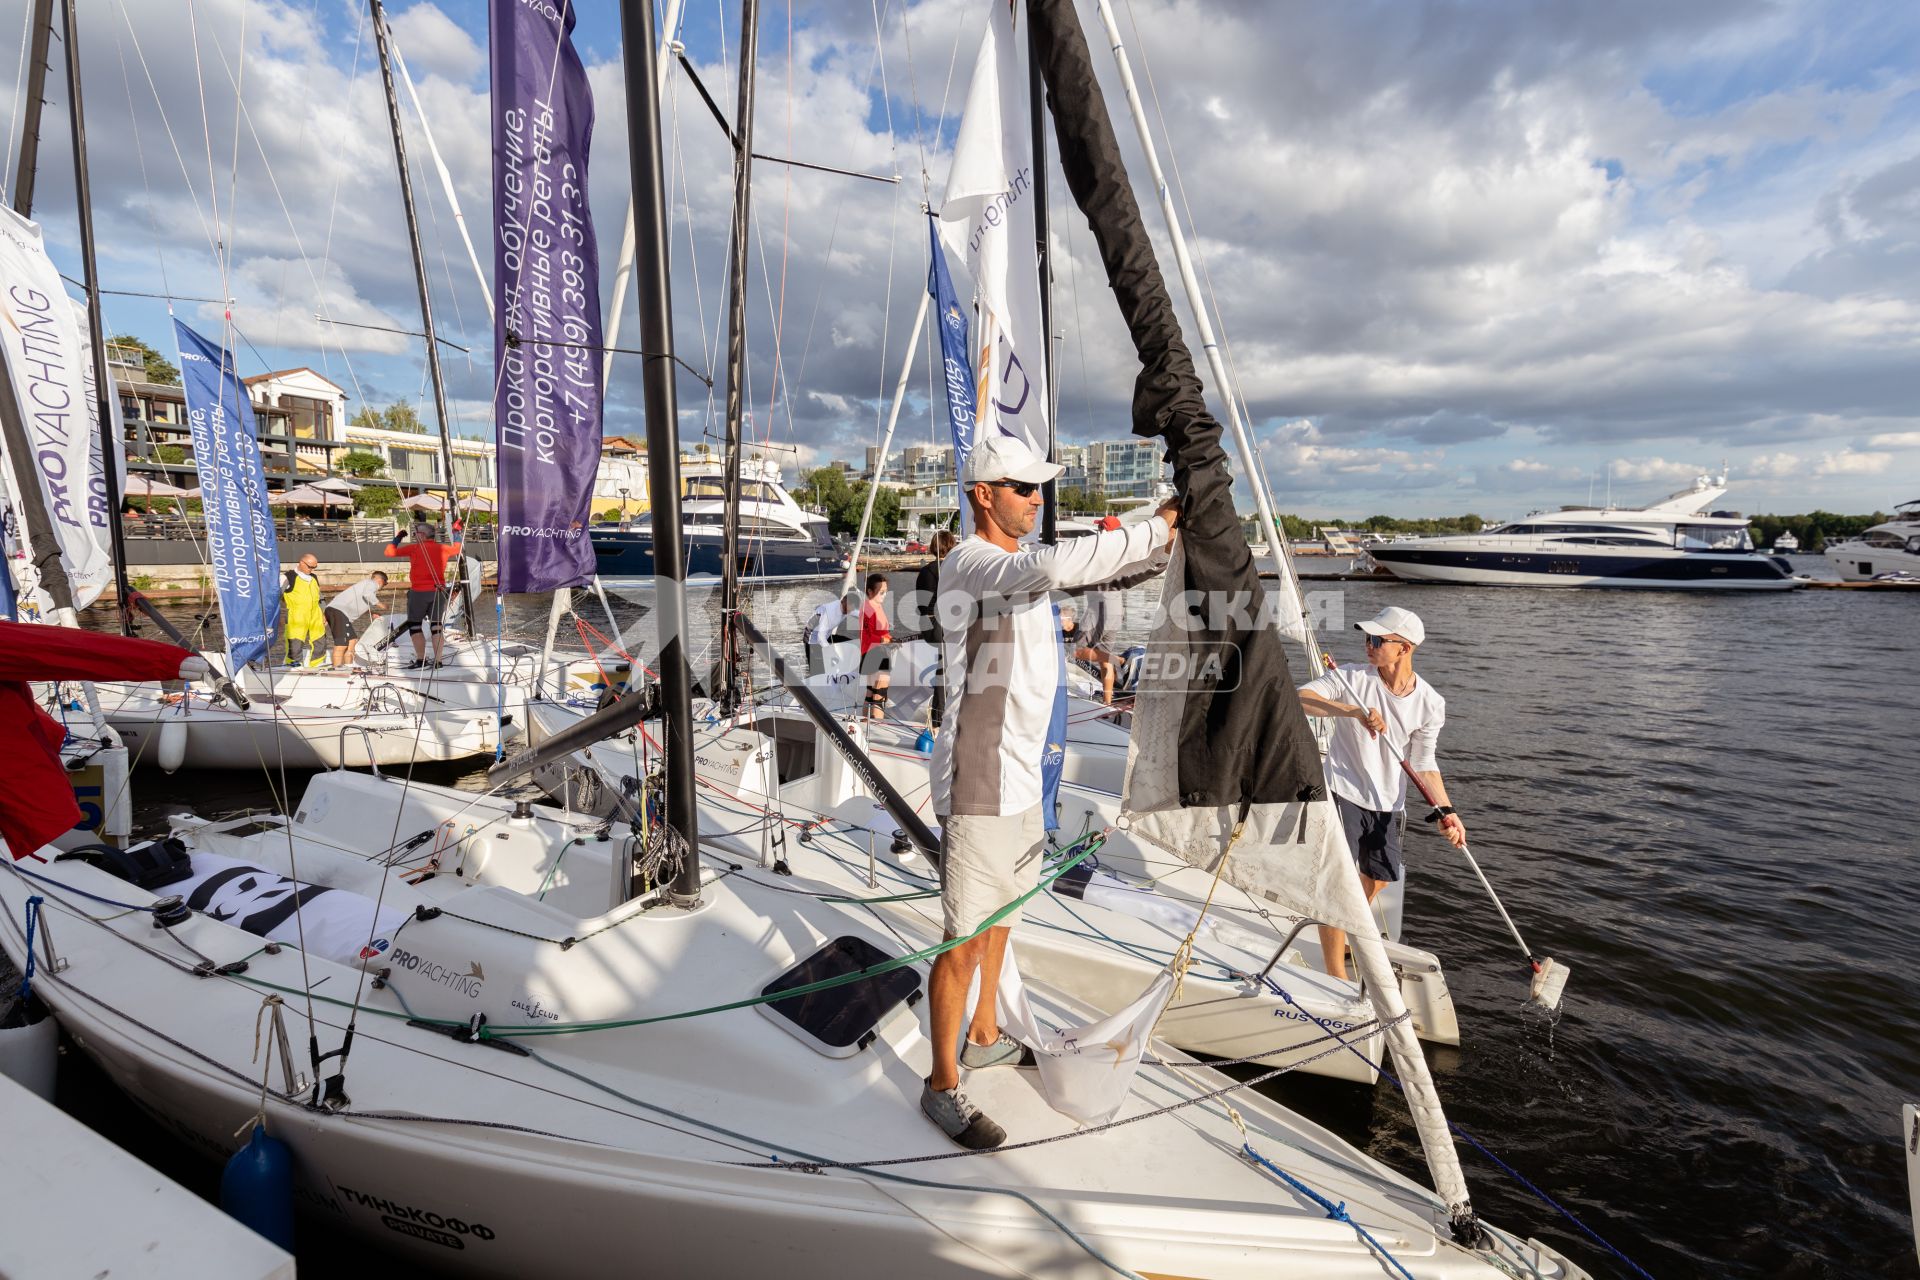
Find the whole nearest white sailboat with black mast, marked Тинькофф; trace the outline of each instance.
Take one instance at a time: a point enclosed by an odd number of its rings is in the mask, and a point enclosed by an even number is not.
[[[536,67],[551,154],[584,163],[570,8],[495,0],[493,17],[495,96],[524,94],[513,71]],[[745,0],[743,98],[755,17]],[[639,234],[664,249],[649,0],[624,0],[622,19]],[[1071,6],[1043,0],[1029,21],[1060,127],[1069,113],[1104,123]],[[495,102],[495,121],[509,106]],[[745,138],[739,152],[735,177]],[[643,1257],[662,1274],[1584,1276],[1480,1222],[1450,1148],[1428,1148],[1428,1190],[1158,1042],[1137,1057],[1081,1044],[1123,1084],[1098,1102],[1052,1092],[1054,1071],[1073,1071],[1068,1052],[1043,1061],[1046,1092],[1018,1071],[981,1073],[970,1088],[1016,1142],[937,1146],[914,1105],[929,1046],[912,1009],[916,965],[945,944],[833,887],[753,873],[701,831],[666,253],[641,261],[659,687],[580,725],[659,725],[628,831],[334,771],[290,818],[179,819],[179,846],[136,867],[0,871],[0,946],[40,954],[21,927],[25,898],[40,896],[60,963],[35,990],[108,1075],[213,1153],[257,1117],[292,1148],[323,1222],[463,1274],[609,1274]],[[741,620],[739,643],[753,635]],[[497,781],[530,764],[497,766]],[[1071,856],[1091,852],[1077,842]],[[1384,967],[1365,935],[1354,942],[1363,967]],[[1102,1021],[1002,981],[1037,1023]],[[1373,1000],[1390,1034],[1398,1000],[1379,986]],[[305,1061],[288,1054],[290,1019],[305,1019]],[[255,1044],[269,1046],[263,1075]],[[1430,1080],[1404,1048],[1430,1123]]]

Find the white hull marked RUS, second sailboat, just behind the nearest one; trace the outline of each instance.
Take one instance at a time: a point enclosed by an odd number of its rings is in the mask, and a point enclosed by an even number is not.
[[[578,712],[566,706],[528,702],[528,733],[536,743],[576,718]],[[812,725],[793,712],[780,720],[791,727],[787,731],[799,729],[812,741]],[[862,722],[851,722],[849,729],[906,800],[925,812],[927,758],[914,750],[914,731]],[[1117,794],[1102,793],[1098,775],[1123,766],[1125,737],[1096,722],[1083,731],[1112,741],[1104,747],[1075,741],[1069,748],[1069,775],[1060,793],[1066,839],[1110,825],[1117,812]],[[778,794],[785,818],[833,818],[820,831],[829,833],[837,825],[847,833],[837,842],[829,835],[812,837],[806,844],[789,837],[785,856],[797,873],[860,896],[937,887],[924,860],[902,860],[891,852],[893,821],[874,808],[852,771],[826,745],[818,747],[804,781],[778,783],[768,777],[778,752],[768,750],[766,735],[753,727],[697,735],[703,829],[739,831],[758,818],[756,806],[774,804]],[[576,752],[570,766],[536,773],[536,781],[564,804],[586,800],[588,808],[609,812],[620,779],[637,771],[632,737],[622,735]],[[591,793],[582,787],[586,773],[595,779]],[[870,841],[860,827],[877,835]],[[870,842],[877,889],[866,879]],[[733,844],[743,856],[760,858],[758,835],[735,837]],[[1171,958],[1200,917],[1212,885],[1204,871],[1169,865],[1119,831],[1110,833],[1100,862],[1110,875],[1096,881],[1098,887],[1089,885],[1085,898],[1056,887],[1027,904],[1027,923],[1020,931],[1021,971],[1094,1007],[1119,1007]],[[1309,1075],[1371,1084],[1380,1063],[1380,1040],[1354,1034],[1356,1027],[1371,1023],[1371,1009],[1356,984],[1327,977],[1317,931],[1296,931],[1300,921],[1275,921],[1231,887],[1221,889],[1215,902],[1219,910],[1204,925],[1196,963],[1162,1019],[1160,1034],[1194,1054],[1261,1054],[1269,1055],[1263,1057],[1269,1063],[1302,1063],[1300,1069]],[[893,919],[939,927],[939,902],[893,902],[879,910]],[[1388,954],[1400,969],[1402,992],[1421,1038],[1459,1044],[1459,1021],[1440,960],[1398,942],[1388,942]],[[1354,1048],[1342,1050],[1332,1032],[1352,1036]]]

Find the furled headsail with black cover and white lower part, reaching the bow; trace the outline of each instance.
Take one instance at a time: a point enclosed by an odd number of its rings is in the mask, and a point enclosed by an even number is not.
[[[1367,998],[1386,1025],[1434,1190],[1450,1207],[1455,1236],[1476,1240],[1446,1113],[1327,800],[1281,629],[1233,509],[1221,428],[1208,415],[1181,340],[1073,0],[1035,0],[1029,21],[1060,165],[1140,355],[1133,430],[1165,438],[1183,499],[1165,603],[1135,702],[1127,829],[1217,869],[1250,894],[1348,931]]]

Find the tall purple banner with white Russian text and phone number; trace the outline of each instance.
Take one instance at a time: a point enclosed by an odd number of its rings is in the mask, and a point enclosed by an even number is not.
[[[493,430],[499,589],[593,576],[601,455],[599,246],[588,211],[593,90],[574,4],[492,0]]]

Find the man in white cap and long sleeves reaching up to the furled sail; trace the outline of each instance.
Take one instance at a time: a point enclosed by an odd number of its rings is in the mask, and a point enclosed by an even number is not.
[[[960,1067],[1031,1063],[1000,1032],[995,994],[1006,935],[1020,912],[987,921],[1039,883],[1046,842],[1041,756],[1060,681],[1060,631],[1050,591],[1071,591],[1142,570],[1173,541],[1179,505],[1127,530],[1021,547],[1041,510],[1041,486],[1060,466],[1023,441],[991,436],[968,457],[962,484],[973,535],[941,562],[935,608],[943,631],[947,723],[933,741],[933,814],[941,821],[941,906],[948,938],[927,983],[933,1075],[920,1107],[970,1150],[996,1148],[1006,1130],[960,1092]],[[960,1050],[968,986],[979,1000]]]

